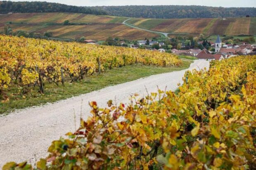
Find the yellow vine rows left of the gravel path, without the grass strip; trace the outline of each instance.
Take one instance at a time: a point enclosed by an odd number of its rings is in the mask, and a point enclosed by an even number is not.
[[[177,56],[158,51],[0,36],[0,99],[8,101],[9,88],[21,88],[20,93],[26,94],[38,86],[44,93],[45,82],[56,86],[79,82],[135,63],[182,65]]]

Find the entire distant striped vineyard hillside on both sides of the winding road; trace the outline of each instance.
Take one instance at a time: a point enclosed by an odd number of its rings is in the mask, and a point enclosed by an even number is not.
[[[57,38],[86,37],[106,40],[119,37],[128,40],[144,40],[159,34],[123,25],[127,17],[81,13],[16,13],[0,15],[0,32],[8,24],[13,31],[44,33],[52,31]],[[70,25],[64,25],[69,20]],[[147,30],[198,35],[256,35],[256,17],[215,19],[141,19],[131,18],[126,23]],[[171,36],[171,35],[170,35]]]

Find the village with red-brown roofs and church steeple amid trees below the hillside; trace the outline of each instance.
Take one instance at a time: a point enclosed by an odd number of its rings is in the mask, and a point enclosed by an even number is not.
[[[103,43],[96,42],[94,40],[84,40],[86,44],[103,44],[114,45],[122,47],[130,47],[133,49],[148,49],[159,52],[173,53],[177,56],[192,56],[200,60],[223,60],[233,56],[255,55],[256,43],[250,44],[249,42],[241,41],[239,43],[228,43],[222,41],[218,35],[215,42],[212,41],[198,41],[197,45],[192,46],[192,42],[186,44],[185,41],[181,42],[177,46],[171,45],[175,39],[169,38],[168,40],[141,40],[141,41],[125,41],[117,38],[109,38]],[[192,40],[193,41],[193,40]],[[180,46],[180,47],[178,47]],[[178,49],[173,48],[178,47]]]

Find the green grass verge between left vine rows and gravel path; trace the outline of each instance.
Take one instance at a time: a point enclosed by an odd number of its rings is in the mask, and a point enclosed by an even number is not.
[[[81,82],[65,83],[65,86],[45,82],[45,93],[38,93],[38,87],[34,87],[25,95],[21,94],[22,88],[11,87],[7,91],[9,102],[0,102],[0,114],[7,114],[14,109],[21,109],[47,102],[71,98],[91,91],[99,90],[107,86],[113,86],[129,82],[142,77],[156,75],[165,72],[173,72],[189,68],[192,61],[183,61],[181,67],[156,67],[146,65],[127,65],[122,68],[107,70],[101,75],[86,77]]]

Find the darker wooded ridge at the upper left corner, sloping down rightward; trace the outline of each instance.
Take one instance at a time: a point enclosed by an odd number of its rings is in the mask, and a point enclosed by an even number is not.
[[[13,13],[30,13],[30,12],[72,12],[83,14],[105,15],[106,12],[100,9],[89,7],[77,7],[50,2],[12,2],[0,1],[0,14]]]

